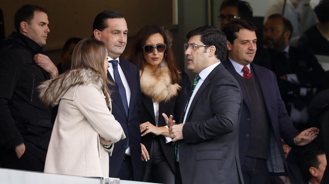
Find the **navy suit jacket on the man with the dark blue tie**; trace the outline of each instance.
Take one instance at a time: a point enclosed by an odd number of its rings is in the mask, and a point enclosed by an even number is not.
[[[131,160],[133,164],[134,180],[141,180],[141,147],[140,147],[140,129],[139,129],[139,108],[140,108],[140,83],[139,83],[139,69],[134,64],[120,58],[119,65],[127,78],[131,96],[128,117],[122,104],[120,93],[116,84],[108,85],[112,91],[112,114],[114,118],[120,123],[126,137],[129,137],[129,146],[131,153]],[[114,83],[110,73],[108,78]],[[110,170],[109,177],[117,178],[123,157],[127,147],[127,138],[120,140],[114,144],[112,156],[110,156]]]

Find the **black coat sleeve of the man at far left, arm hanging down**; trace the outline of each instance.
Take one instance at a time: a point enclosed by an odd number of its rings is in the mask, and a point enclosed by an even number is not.
[[[0,56],[0,140],[1,146],[7,150],[24,142],[22,135],[15,127],[15,122],[9,110],[9,102],[16,90],[20,77],[19,58],[13,53]]]

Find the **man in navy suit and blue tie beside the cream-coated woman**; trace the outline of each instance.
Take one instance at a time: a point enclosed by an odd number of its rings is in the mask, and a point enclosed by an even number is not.
[[[141,153],[148,159],[144,145],[140,144],[139,69],[134,64],[119,58],[127,44],[128,28],[123,15],[117,11],[99,13],[93,23],[93,37],[105,43],[110,67],[108,84],[112,91],[112,114],[120,123],[126,139],[115,143],[110,156],[109,176],[123,180],[141,180]]]

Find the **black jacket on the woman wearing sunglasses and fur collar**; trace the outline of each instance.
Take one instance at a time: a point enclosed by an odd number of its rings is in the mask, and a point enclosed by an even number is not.
[[[178,95],[170,99],[169,102],[159,103],[159,127],[166,126],[166,123],[164,121],[164,118],[162,117],[162,113],[167,114],[168,116],[171,114],[173,115],[173,119],[176,122],[180,122],[181,115],[183,113],[184,107],[185,107],[185,101],[187,98],[187,95],[185,94],[185,86],[184,81],[182,80],[179,85],[182,87],[181,90],[178,91]],[[142,104],[140,107],[140,116],[139,116],[139,122],[145,123],[150,122],[154,126],[156,126],[155,119],[154,119],[154,108],[153,108],[153,101],[151,98],[147,97],[142,93]],[[141,138],[141,143],[144,144],[146,150],[151,150],[152,140],[154,138],[160,139],[160,145],[164,152],[164,155],[169,162],[169,165],[172,169],[172,171],[175,171],[175,152],[174,152],[174,145],[173,142],[165,143],[165,138],[162,135],[156,136],[152,133],[148,133],[145,136]],[[142,164],[143,169],[146,168],[147,163]]]

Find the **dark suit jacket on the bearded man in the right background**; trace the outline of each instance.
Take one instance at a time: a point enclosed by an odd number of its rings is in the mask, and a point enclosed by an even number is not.
[[[325,83],[325,73],[318,63],[314,54],[306,48],[297,49],[289,47],[289,59],[282,52],[269,49],[272,62],[272,71],[275,73],[281,93],[285,102],[288,114],[290,114],[291,104],[297,109],[302,109],[308,105],[313,98],[313,90],[306,96],[300,96],[300,88],[320,87]],[[287,80],[280,79],[286,74],[296,74],[300,84],[294,84]]]

